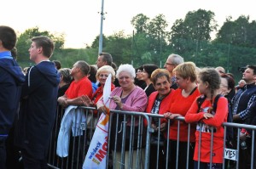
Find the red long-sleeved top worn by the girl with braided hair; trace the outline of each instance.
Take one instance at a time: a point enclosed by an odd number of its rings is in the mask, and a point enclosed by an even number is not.
[[[213,101],[212,103],[214,102]],[[201,104],[201,110],[198,111],[198,104],[195,102],[192,104],[187,115],[185,116],[185,121],[187,122],[197,122],[201,121],[201,162],[210,162],[210,148],[211,148],[211,132],[210,129],[213,127],[213,148],[212,148],[212,163],[223,163],[223,154],[224,154],[224,127],[222,123],[227,121],[228,116],[228,100],[224,97],[220,97],[217,103],[216,113],[211,111],[212,104],[210,100],[206,99]],[[205,119],[203,117],[204,113],[210,112],[214,115],[212,118]],[[198,161],[198,151],[199,151],[199,135],[200,135],[200,126],[197,124],[195,132],[195,153],[194,160]]]

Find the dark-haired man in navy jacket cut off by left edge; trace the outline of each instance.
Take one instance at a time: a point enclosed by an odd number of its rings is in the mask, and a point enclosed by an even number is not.
[[[15,31],[0,25],[0,168],[6,166],[6,139],[19,109],[21,84],[25,82],[20,66],[11,51],[16,44]]]

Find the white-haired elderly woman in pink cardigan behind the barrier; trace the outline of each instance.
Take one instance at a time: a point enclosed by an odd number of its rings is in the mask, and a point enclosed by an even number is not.
[[[136,76],[135,69],[132,65],[120,65],[117,70],[117,78],[119,80],[120,87],[115,87],[110,94],[110,110],[125,110],[125,111],[137,111],[144,112],[147,103],[148,97],[141,87],[137,87],[134,84],[134,78]],[[102,99],[97,104],[97,109],[101,112],[106,112],[105,107],[102,104]],[[130,133],[131,133],[131,116],[126,115],[126,121],[124,115],[117,115],[113,113],[112,126],[110,133],[110,149],[113,151],[116,150],[116,159],[114,165],[116,168],[119,168],[119,165],[124,165],[121,163],[121,148],[122,148],[122,136],[123,136],[123,125],[126,125],[125,131],[125,166],[128,166],[129,162],[129,144],[130,144]],[[118,124],[117,124],[118,123]],[[135,119],[133,123],[135,125],[134,129],[134,144],[133,148],[137,149],[137,136],[138,136],[138,119]],[[117,140],[115,141],[115,137]],[[116,144],[118,143],[118,144]],[[116,148],[116,149],[115,149]],[[133,164],[131,168],[135,168],[136,164],[136,154],[133,153]],[[134,166],[134,167],[132,167]]]

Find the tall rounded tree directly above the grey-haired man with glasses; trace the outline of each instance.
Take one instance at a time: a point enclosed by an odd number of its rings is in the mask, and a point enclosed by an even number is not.
[[[201,42],[211,40],[211,32],[217,30],[217,22],[214,20],[215,14],[212,11],[198,9],[189,11],[185,19],[176,20],[170,32],[170,46],[178,54],[190,53],[198,55]]]

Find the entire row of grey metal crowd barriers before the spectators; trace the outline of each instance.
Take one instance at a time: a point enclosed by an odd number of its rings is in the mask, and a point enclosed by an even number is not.
[[[83,135],[79,137],[72,137],[70,136],[70,148],[68,152],[68,156],[61,158],[56,155],[56,145],[57,145],[57,138],[58,132],[60,130],[61,119],[64,114],[64,111],[59,109],[57,111],[56,119],[55,119],[55,127],[52,132],[52,138],[49,144],[49,155],[48,155],[48,164],[50,168],[61,168],[61,169],[78,169],[82,168],[84,163],[84,158],[87,153],[87,150],[90,146],[90,140],[93,136],[96,122],[99,119],[99,114],[96,112],[95,108],[88,108],[88,107],[79,107],[84,109],[85,116],[87,118],[86,123],[84,124],[84,132]],[[156,144],[156,153],[154,157],[156,159],[156,163],[154,166],[150,166],[150,168],[159,168],[159,161],[162,161],[163,157],[160,156],[164,155],[165,160],[165,167],[170,168],[171,165],[168,163],[169,155],[172,155],[170,151],[170,141],[169,139],[165,140],[164,145],[160,142],[160,127],[158,127],[157,131],[151,127],[151,119],[157,118],[160,124],[161,118],[164,118],[163,115],[154,115],[148,114],[144,112],[131,112],[131,111],[120,111],[120,110],[111,110],[110,118],[109,118],[109,131],[108,131],[108,152],[107,152],[107,168],[114,169],[114,168],[149,168],[149,155],[150,155],[150,148],[152,144],[151,135],[157,135]],[[180,123],[184,122],[183,117],[177,117],[175,119],[177,121],[177,149],[176,149],[176,166],[172,164],[172,168],[180,168],[178,158],[180,153],[180,140],[179,134],[183,131],[180,131]],[[128,124],[129,123],[129,124]],[[145,125],[145,124],[148,125]],[[170,134],[170,125],[172,125],[172,121],[167,121],[166,127],[166,138],[169,138]],[[224,126],[224,140],[226,140],[227,135],[227,127],[233,127],[234,130],[237,132],[237,136],[241,131],[241,128],[246,128],[252,130],[252,138],[251,138],[251,146],[247,147],[250,155],[250,168],[253,169],[253,165],[255,166],[255,155],[254,155],[254,142],[255,142],[255,126],[251,125],[241,125],[237,123],[223,123]],[[191,124],[188,124],[188,140],[190,138],[190,129]],[[212,146],[213,146],[213,130],[211,132],[211,156],[212,156]],[[120,138],[120,139],[119,139]],[[121,140],[121,141],[120,141]],[[241,141],[239,137],[235,138],[237,144],[236,147],[233,148],[225,148],[226,142],[224,141],[224,159],[223,159],[223,168],[230,168],[230,161],[234,161],[235,167],[239,167],[239,155],[241,152]],[[199,141],[199,152],[200,152],[200,144],[201,144],[201,134],[200,134],[200,141]],[[190,143],[188,141],[187,144],[187,155],[186,159],[183,162],[186,163],[186,168],[191,168],[189,166],[189,146]],[[112,150],[110,150],[112,149]],[[161,149],[164,149],[164,152],[161,152]],[[163,154],[164,153],[164,154]],[[194,152],[192,152],[194,154]],[[152,155],[152,154],[151,154]],[[167,160],[166,160],[167,159]],[[200,154],[199,154],[200,159]],[[151,161],[152,163],[152,161]],[[174,165],[174,166],[173,166]],[[210,166],[212,166],[212,158],[210,161]],[[198,166],[200,168],[200,165]],[[244,167],[246,168],[246,167]]]

